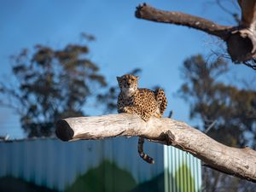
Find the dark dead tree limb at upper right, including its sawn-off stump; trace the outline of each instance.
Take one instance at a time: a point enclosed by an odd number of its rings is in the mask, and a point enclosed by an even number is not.
[[[253,61],[256,57],[256,0],[239,1],[241,23],[239,26],[220,26],[182,12],[155,9],[146,3],[139,5],[135,15],[139,19],[189,26],[217,36],[227,44],[227,51],[235,63]]]

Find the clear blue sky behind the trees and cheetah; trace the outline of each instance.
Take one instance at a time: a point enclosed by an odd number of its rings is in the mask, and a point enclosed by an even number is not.
[[[230,15],[213,2],[152,0],[146,3],[159,9],[199,15],[222,25],[234,24]],[[9,55],[23,48],[32,49],[35,44],[61,49],[69,43],[80,43],[80,33],[86,32],[96,37],[96,42],[89,45],[90,59],[98,64],[110,84],[116,84],[116,76],[140,67],[143,69],[140,86],[160,85],[169,101],[167,112],[173,110],[174,119],[197,124],[196,119],[189,120],[188,103],[174,96],[183,83],[179,68],[191,55],[209,55],[210,49],[218,49],[220,40],[183,26],[138,20],[134,12],[139,3],[143,1],[0,1],[0,79],[10,80]],[[228,6],[239,10],[237,6]],[[226,83],[234,84],[234,77],[255,78],[255,71],[248,67],[230,64],[230,68]],[[97,115],[102,111],[90,108],[90,113]],[[19,116],[0,107],[0,135],[6,134],[11,138],[24,137]]]

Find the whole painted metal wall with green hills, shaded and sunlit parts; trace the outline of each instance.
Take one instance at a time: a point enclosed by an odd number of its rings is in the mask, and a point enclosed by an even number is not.
[[[0,191],[24,188],[26,192],[167,192],[175,191],[167,183],[178,182],[175,189],[183,189],[182,185],[192,181],[196,185],[193,189],[200,189],[200,161],[187,154],[170,155],[169,148],[146,142],[145,152],[155,160],[154,165],[149,165],[139,158],[135,137],[71,143],[53,138],[0,142]],[[187,166],[190,173],[178,173]],[[189,180],[185,179],[188,174]],[[15,186],[20,188],[17,190]]]

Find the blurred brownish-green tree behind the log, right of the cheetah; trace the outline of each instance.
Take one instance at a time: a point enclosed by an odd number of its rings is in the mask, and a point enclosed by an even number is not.
[[[190,118],[200,119],[197,127],[220,143],[255,149],[256,90],[218,80],[229,71],[222,59],[207,62],[202,55],[195,55],[183,62],[181,71],[184,83],[178,95],[190,103]],[[238,191],[252,187],[252,183],[236,177],[207,168],[203,171],[206,191]]]

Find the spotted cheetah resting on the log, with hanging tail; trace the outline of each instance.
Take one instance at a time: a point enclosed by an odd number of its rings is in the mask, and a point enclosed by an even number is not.
[[[120,93],[118,97],[118,113],[137,113],[144,121],[151,116],[161,118],[166,110],[167,100],[164,90],[148,90],[137,88],[138,77],[125,74],[117,77]],[[153,158],[143,151],[144,138],[138,139],[138,154],[148,162],[154,164]]]

